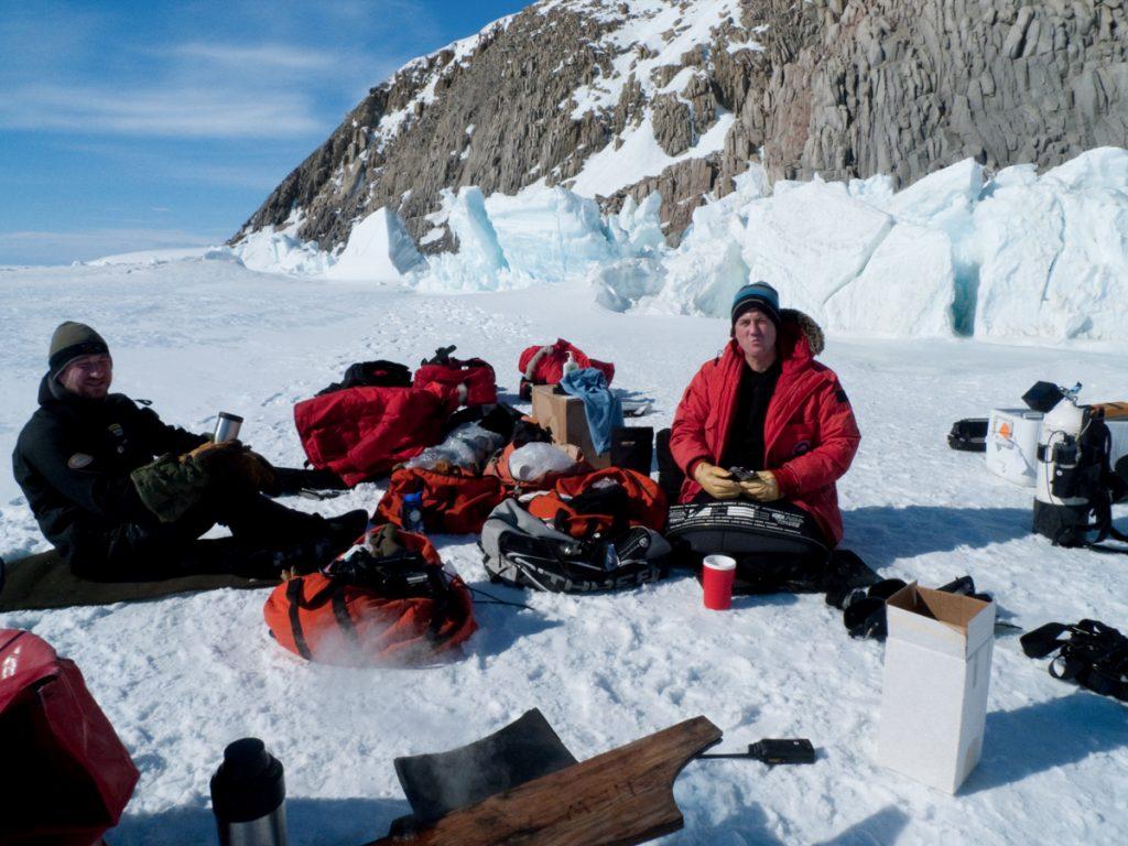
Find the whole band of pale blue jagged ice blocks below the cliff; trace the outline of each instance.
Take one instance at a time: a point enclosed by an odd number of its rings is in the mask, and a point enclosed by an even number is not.
[[[538,183],[513,196],[444,192],[429,219],[434,233],[450,227],[458,252],[428,259],[382,209],[336,256],[297,239],[297,222],[249,233],[232,253],[253,270],[386,274],[424,291],[583,280],[608,309],[713,317],[763,279],[828,329],[870,335],[1059,342],[1118,340],[1128,326],[1128,150],[989,178],[966,159],[899,192],[883,175],[772,185],[752,164],[731,187],[694,211],[677,247],[658,193],[603,214]]]

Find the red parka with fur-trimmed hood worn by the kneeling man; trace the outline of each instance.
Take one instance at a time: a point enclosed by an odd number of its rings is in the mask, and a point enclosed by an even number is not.
[[[822,352],[822,331],[800,311],[784,309],[782,315],[779,379],[764,421],[765,469],[775,474],[783,496],[838,544],[843,517],[835,482],[849,469],[862,435],[838,377],[814,360]],[[743,367],[743,353],[730,341],[702,365],[678,404],[670,451],[686,474],[681,502],[702,490],[694,479],[697,465],[721,460]]]

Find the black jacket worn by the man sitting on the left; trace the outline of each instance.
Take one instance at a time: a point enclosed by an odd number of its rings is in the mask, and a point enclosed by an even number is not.
[[[86,399],[45,376],[39,408],[12,453],[16,482],[47,540],[72,567],[105,558],[112,534],[151,522],[130,473],[165,452],[187,452],[206,439],[169,426],[124,394]]]

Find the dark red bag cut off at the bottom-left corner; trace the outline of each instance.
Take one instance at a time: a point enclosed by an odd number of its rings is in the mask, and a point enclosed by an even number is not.
[[[73,661],[0,628],[0,843],[90,846],[117,825],[138,769]]]

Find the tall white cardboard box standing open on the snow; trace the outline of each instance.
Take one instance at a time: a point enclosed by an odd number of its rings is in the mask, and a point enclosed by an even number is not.
[[[878,763],[955,793],[982,751],[995,605],[914,582],[887,618]]]

